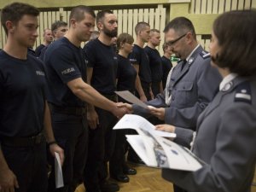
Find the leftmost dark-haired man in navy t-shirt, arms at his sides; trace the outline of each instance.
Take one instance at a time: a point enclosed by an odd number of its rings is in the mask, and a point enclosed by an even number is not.
[[[7,43],[0,51],[0,191],[47,190],[46,140],[55,143],[46,102],[43,63],[27,53],[38,38],[39,10],[11,3],[1,10]]]

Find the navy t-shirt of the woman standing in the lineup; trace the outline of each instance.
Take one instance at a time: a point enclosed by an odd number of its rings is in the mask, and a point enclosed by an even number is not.
[[[136,69],[131,65],[128,58],[118,55],[117,90],[135,91]]]

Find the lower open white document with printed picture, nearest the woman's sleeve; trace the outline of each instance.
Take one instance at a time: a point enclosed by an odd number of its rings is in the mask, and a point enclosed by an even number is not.
[[[148,165],[183,171],[196,171],[202,167],[188,149],[163,137],[142,135],[126,136],[128,143],[138,156]]]

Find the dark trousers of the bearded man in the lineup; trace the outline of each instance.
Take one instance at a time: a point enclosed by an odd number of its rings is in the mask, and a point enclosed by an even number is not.
[[[116,102],[114,95],[103,95]],[[108,177],[108,160],[113,154],[115,133],[113,126],[117,118],[102,108],[95,108],[100,124],[96,129],[89,129],[88,159],[84,169],[84,186],[87,192],[100,190]]]

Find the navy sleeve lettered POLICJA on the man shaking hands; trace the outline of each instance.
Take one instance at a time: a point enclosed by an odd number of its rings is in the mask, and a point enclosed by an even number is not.
[[[61,49],[55,49],[49,54],[51,54],[51,56],[49,57],[49,61],[46,62],[49,62],[47,64],[54,68],[64,84],[67,84],[67,82],[73,79],[81,78],[81,73],[77,66],[78,63],[75,63],[71,49],[62,46]]]

